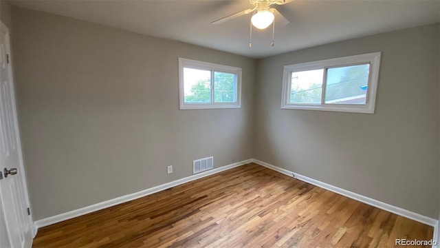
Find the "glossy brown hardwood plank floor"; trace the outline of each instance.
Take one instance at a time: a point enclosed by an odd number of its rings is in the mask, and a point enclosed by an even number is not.
[[[33,247],[395,247],[432,231],[249,164],[43,227]]]

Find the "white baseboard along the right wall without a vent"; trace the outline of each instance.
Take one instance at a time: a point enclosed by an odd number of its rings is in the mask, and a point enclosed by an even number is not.
[[[428,216],[423,216],[421,214],[417,214],[415,212],[408,211],[406,209],[402,209],[400,207],[396,207],[396,206],[390,205],[388,203],[383,203],[383,202],[381,202],[379,200],[375,200],[373,198],[362,196],[360,194],[356,194],[354,192],[350,192],[350,191],[348,191],[346,189],[341,189],[340,187],[329,185],[328,183],[322,183],[319,180],[315,180],[313,178],[309,178],[307,176],[303,176],[303,175],[297,174],[295,172],[290,172],[287,169],[276,167],[275,165],[271,165],[269,163],[265,163],[263,161],[259,161],[258,159],[252,159],[252,162],[254,162],[256,164],[259,164],[259,165],[263,165],[264,167],[267,167],[269,169],[273,169],[274,171],[280,172],[280,173],[285,174],[287,176],[292,176],[294,174],[295,178],[297,178],[299,180],[302,180],[302,181],[304,181],[306,183],[310,183],[312,185],[316,185],[318,187],[322,187],[323,189],[327,189],[327,190],[329,190],[331,192],[335,192],[337,194],[341,194],[342,196],[347,196],[347,197],[352,198],[354,200],[358,200],[361,203],[366,203],[366,204],[371,205],[373,207],[377,207],[377,208],[380,208],[380,209],[384,209],[386,211],[390,211],[393,214],[397,214],[399,216],[404,216],[404,217],[409,218],[411,220],[415,220],[415,221],[417,221],[419,223],[430,225],[432,227],[435,227],[436,225],[438,225],[437,224],[438,221],[436,219],[434,219],[434,218],[430,218]]]

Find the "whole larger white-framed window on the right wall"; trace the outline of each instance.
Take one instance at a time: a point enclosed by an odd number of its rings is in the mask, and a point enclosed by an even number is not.
[[[380,54],[286,65],[281,108],[373,114]]]

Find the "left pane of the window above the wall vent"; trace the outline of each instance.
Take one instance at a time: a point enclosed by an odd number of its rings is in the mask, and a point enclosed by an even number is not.
[[[211,102],[211,72],[184,68],[184,100],[185,103]]]

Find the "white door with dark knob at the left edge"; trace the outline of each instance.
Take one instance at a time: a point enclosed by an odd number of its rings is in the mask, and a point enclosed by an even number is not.
[[[1,248],[31,247],[34,225],[28,209],[9,29],[3,23],[0,39],[0,245]]]

